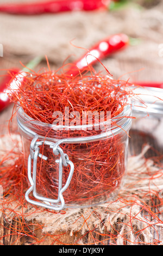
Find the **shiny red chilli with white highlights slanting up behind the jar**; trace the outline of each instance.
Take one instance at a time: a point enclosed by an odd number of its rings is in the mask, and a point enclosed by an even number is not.
[[[98,59],[104,59],[112,53],[121,50],[129,44],[129,38],[126,34],[115,34],[105,38],[94,45],[89,53],[74,62],[71,69],[66,72],[67,75],[79,75],[79,70],[83,71],[88,64],[96,64]]]

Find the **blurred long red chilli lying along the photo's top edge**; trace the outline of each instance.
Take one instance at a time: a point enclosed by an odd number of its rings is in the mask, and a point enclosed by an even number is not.
[[[60,13],[63,11],[91,11],[107,8],[110,0],[55,0],[27,4],[2,4],[0,11],[10,14]]]

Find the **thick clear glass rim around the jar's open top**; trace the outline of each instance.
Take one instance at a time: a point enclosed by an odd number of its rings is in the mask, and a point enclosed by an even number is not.
[[[123,116],[124,114],[124,116]],[[42,135],[40,133],[41,128],[42,130],[45,129],[45,127],[48,127],[49,130],[53,129],[53,125],[52,124],[47,124],[47,123],[42,123],[40,121],[34,120],[32,118],[30,118],[24,111],[22,107],[19,107],[17,109],[17,123],[18,123],[18,127],[20,128],[20,130],[22,132],[25,132],[26,134],[28,134],[30,137],[35,137],[36,135],[40,138],[40,139],[47,139],[48,141],[59,141],[60,139],[66,143],[85,143],[85,142],[91,142],[91,141],[97,141],[99,139],[105,139],[105,138],[109,138],[109,137],[114,137],[115,135],[117,135],[120,132],[128,132],[128,130],[130,129],[131,126],[131,118],[130,118],[130,114],[131,114],[131,105],[129,104],[128,101],[128,105],[126,105],[123,109],[123,111],[117,115],[115,118],[117,118],[118,122],[117,125],[114,125],[111,127],[111,129],[109,130],[101,130],[101,133],[98,135],[91,135],[91,136],[80,136],[80,137],[55,137],[53,135],[53,137],[51,136],[47,136],[46,135]],[[114,120],[115,121],[115,120]],[[41,126],[40,129],[36,128],[36,126]],[[75,127],[75,126],[74,126]]]

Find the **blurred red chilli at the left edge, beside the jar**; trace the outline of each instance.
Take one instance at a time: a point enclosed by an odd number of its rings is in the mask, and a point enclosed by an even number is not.
[[[10,73],[10,75],[6,75],[1,82],[0,86],[0,111],[2,111],[4,108],[8,107],[10,104],[10,99],[8,97],[8,89],[7,84],[11,83],[13,80],[11,79],[11,76],[15,77],[16,74],[18,74],[20,70],[14,69]]]

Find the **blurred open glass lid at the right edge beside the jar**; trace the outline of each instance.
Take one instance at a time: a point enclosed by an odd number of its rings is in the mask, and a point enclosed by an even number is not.
[[[163,137],[160,136],[163,129],[163,90],[138,87],[134,92],[141,100],[132,102],[132,111],[136,119],[133,120],[130,130],[130,142],[134,144],[134,147],[130,148],[130,154],[140,154],[140,149],[150,145],[145,156],[155,157],[156,160],[163,154]]]

